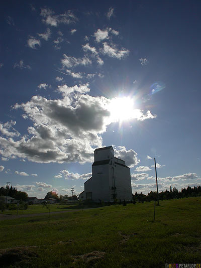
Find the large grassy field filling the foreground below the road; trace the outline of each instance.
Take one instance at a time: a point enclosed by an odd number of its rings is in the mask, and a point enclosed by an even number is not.
[[[141,268],[200,263],[201,198],[160,204],[155,222],[153,202],[3,220],[0,266]]]

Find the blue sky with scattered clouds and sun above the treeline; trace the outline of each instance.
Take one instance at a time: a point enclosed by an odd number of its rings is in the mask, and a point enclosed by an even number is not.
[[[0,185],[78,194],[113,145],[133,192],[201,185],[200,1],[7,1]]]

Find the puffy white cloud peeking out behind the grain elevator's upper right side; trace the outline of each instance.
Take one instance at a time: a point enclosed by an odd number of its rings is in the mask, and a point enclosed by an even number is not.
[[[117,158],[123,159],[126,162],[126,165],[130,168],[133,168],[138,163],[140,163],[140,160],[137,158],[137,153],[132,149],[127,151],[124,146],[117,146],[114,147],[114,151],[115,156]]]

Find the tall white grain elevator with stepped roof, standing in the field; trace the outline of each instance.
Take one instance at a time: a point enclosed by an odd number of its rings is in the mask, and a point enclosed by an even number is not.
[[[112,146],[94,151],[92,177],[84,183],[79,200],[114,202],[132,199],[131,173],[125,161],[114,156]]]

